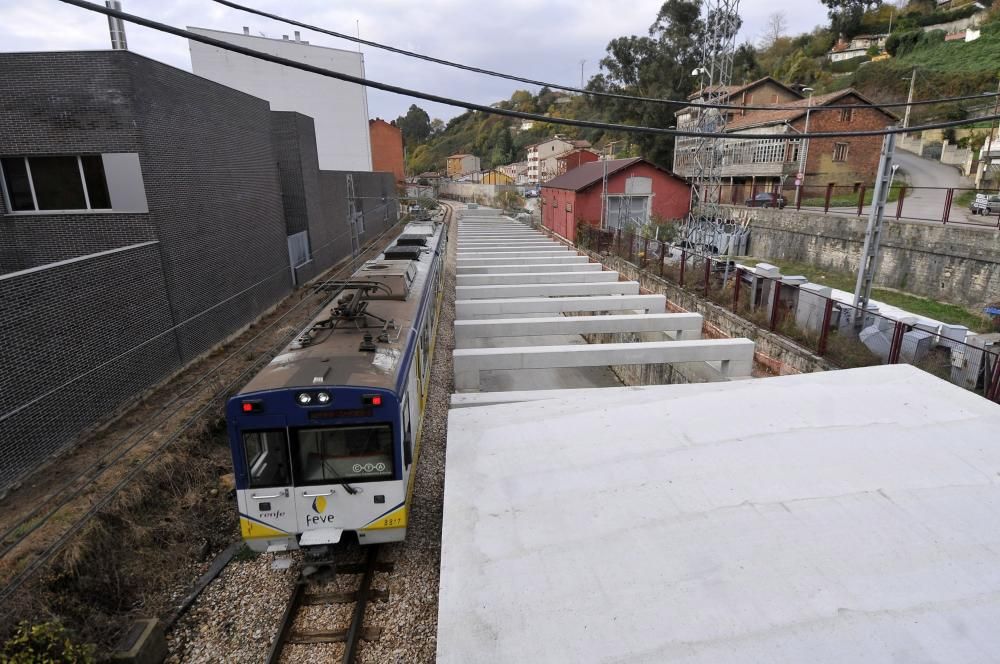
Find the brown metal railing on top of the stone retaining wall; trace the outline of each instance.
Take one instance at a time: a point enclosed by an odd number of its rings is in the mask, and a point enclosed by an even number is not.
[[[867,215],[871,210],[874,185],[822,185],[802,187],[730,186],[723,187],[721,202],[730,205],[785,207],[786,209],[842,214]],[[755,200],[759,194],[774,194],[770,200]],[[977,194],[993,195],[996,192],[982,189],[945,187],[910,187],[902,183],[893,185],[886,206],[886,218],[927,223],[957,224],[985,228],[1000,228],[1000,206],[993,203],[992,210],[983,214],[972,203]],[[777,198],[780,197],[780,198]]]

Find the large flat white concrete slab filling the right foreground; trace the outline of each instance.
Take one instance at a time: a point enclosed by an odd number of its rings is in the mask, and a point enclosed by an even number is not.
[[[563,393],[449,413],[440,664],[995,661],[996,404],[906,365]]]

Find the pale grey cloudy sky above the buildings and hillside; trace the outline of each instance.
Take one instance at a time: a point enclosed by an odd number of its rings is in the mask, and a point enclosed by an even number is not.
[[[608,41],[645,34],[662,0],[239,0],[273,14],[353,33],[407,50],[506,73],[567,85],[597,71]],[[101,2],[100,4],[103,4]],[[211,0],[124,0],[127,12],[174,26],[198,26],[280,38],[293,27],[245,14]],[[819,0],[743,0],[741,40],[756,41],[767,17],[782,11],[792,34],[826,21]],[[187,41],[126,24],[129,48],[182,69],[191,69]],[[303,31],[313,44],[356,49],[350,42]],[[107,19],[57,0],[0,0],[0,44],[4,51],[103,49]],[[474,75],[365,47],[368,78],[440,95],[489,104],[516,89],[511,81]],[[523,86],[522,86],[523,87]],[[371,115],[395,118],[414,100],[369,92]],[[417,101],[432,117],[461,112]]]

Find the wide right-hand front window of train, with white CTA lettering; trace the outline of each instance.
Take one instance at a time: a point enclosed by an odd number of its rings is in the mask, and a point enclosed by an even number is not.
[[[392,479],[392,427],[299,429],[293,453],[296,484],[337,484]]]

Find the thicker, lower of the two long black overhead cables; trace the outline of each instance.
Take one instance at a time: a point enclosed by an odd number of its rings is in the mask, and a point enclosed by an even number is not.
[[[167,25],[165,23],[160,23],[158,21],[153,21],[148,18],[143,18],[142,16],[136,16],[135,14],[129,14],[123,11],[118,11],[115,9],[110,9],[108,7],[102,7],[100,5],[95,5],[86,0],[59,0],[63,4],[73,5],[75,7],[80,7],[88,11],[96,12],[98,14],[104,14],[106,16],[114,16],[121,18],[130,23],[135,23],[136,25],[141,25],[146,28],[151,28],[153,30],[158,30],[160,32],[166,32],[178,37],[184,37],[185,39],[190,39],[191,41],[200,42],[202,44],[208,44],[209,46],[215,46],[216,48],[221,48],[226,51],[232,51],[233,53],[239,53],[241,55],[246,55],[251,58],[256,58],[258,60],[264,60],[266,62],[272,62],[274,64],[282,65],[284,67],[290,67],[292,69],[299,69],[301,71],[306,71],[311,74],[317,74],[319,76],[326,76],[327,78],[334,78],[339,81],[345,81],[347,83],[355,83],[357,85],[363,85],[369,88],[374,88],[376,90],[384,90],[385,92],[392,92],[393,94],[403,95],[405,97],[413,97],[415,99],[424,99],[426,101],[432,101],[438,104],[444,104],[446,106],[456,106],[458,108],[465,108],[470,111],[480,111],[489,115],[500,115],[509,118],[518,118],[520,120],[533,120],[535,122],[547,122],[550,124],[565,125],[567,127],[583,127],[587,129],[603,129],[606,131],[617,131],[623,133],[632,134],[653,134],[659,136],[697,136],[697,137],[714,137],[714,138],[747,138],[747,139],[787,139],[789,137],[786,133],[721,133],[721,132],[700,132],[688,129],[663,129],[659,127],[644,127],[636,125],[622,125],[614,124],[609,122],[594,122],[592,120],[573,120],[570,118],[558,118],[550,117],[547,115],[539,115],[537,113],[525,113],[523,111],[514,111],[510,109],[503,108],[493,108],[492,106],[484,106],[483,104],[476,104],[469,101],[463,101],[461,99],[454,99],[452,97],[443,97],[441,95],[431,94],[429,92],[420,92],[418,90],[411,90],[409,88],[403,88],[398,85],[391,85],[388,83],[381,83],[379,81],[373,81],[371,79],[361,78],[359,76],[352,76],[351,74],[344,74],[338,71],[332,71],[330,69],[323,69],[322,67],[315,67],[313,65],[308,65],[302,62],[295,62],[294,60],[288,60],[287,58],[282,58],[276,55],[271,55],[270,53],[262,53],[260,51],[255,51],[252,48],[246,48],[243,46],[238,46],[236,44],[231,44],[221,39],[214,39],[212,37],[206,37],[204,35],[199,35],[197,33],[191,32],[189,30],[183,30],[181,28],[175,28],[172,25]],[[803,107],[794,107],[795,110],[805,110]],[[814,107],[815,110],[828,110],[830,106],[818,106]],[[851,108],[857,108],[852,106]],[[984,115],[976,118],[968,118],[965,120],[950,120],[946,122],[938,122],[934,124],[917,125],[914,127],[885,127],[884,129],[869,129],[862,131],[820,131],[813,132],[809,134],[796,134],[797,138],[840,138],[849,136],[885,136],[886,134],[904,134],[917,131],[924,131],[928,129],[947,129],[949,127],[961,127],[969,124],[974,124],[977,122],[983,122],[986,120],[996,120],[1000,119],[1000,114],[995,115]]]

